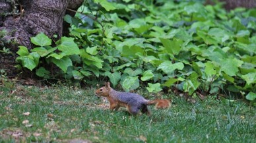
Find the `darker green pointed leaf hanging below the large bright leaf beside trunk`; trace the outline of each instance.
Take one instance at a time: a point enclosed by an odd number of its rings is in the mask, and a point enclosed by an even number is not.
[[[67,72],[67,68],[72,66],[72,61],[69,57],[63,57],[61,59],[52,58],[51,61],[65,73]]]

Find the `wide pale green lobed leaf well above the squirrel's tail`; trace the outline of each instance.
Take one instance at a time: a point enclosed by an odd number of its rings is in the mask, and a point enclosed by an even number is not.
[[[164,63],[161,63],[159,65],[157,70],[161,69],[166,74],[168,74],[168,73],[175,71],[176,69],[182,70],[183,68],[184,68],[184,65],[181,62],[172,64],[172,61],[164,61]]]

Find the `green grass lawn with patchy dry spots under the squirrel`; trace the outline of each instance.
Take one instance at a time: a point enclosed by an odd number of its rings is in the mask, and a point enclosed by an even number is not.
[[[131,116],[109,111],[95,89],[0,87],[0,142],[254,142],[256,110],[244,101],[207,98],[189,103],[172,95],[169,109]],[[141,91],[143,92],[143,91]],[[146,98],[153,98],[144,92]],[[30,115],[23,115],[30,112]],[[28,120],[27,124],[22,122]],[[32,127],[31,127],[32,126]]]

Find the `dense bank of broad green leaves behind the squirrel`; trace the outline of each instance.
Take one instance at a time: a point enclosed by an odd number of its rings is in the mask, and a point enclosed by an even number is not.
[[[88,1],[75,18],[72,38],[20,47],[17,61],[52,78],[49,63],[65,78],[90,82],[108,77],[125,90],[174,88],[191,96],[236,92],[256,98],[256,9],[227,12],[222,4],[177,1]],[[56,76],[56,75],[55,75]],[[107,79],[106,79],[107,80]]]

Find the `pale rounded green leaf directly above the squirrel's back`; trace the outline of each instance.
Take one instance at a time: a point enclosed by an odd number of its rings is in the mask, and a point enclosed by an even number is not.
[[[139,78],[138,76],[135,77],[127,77],[122,83],[125,92],[129,92],[130,90],[135,90],[139,87]]]

